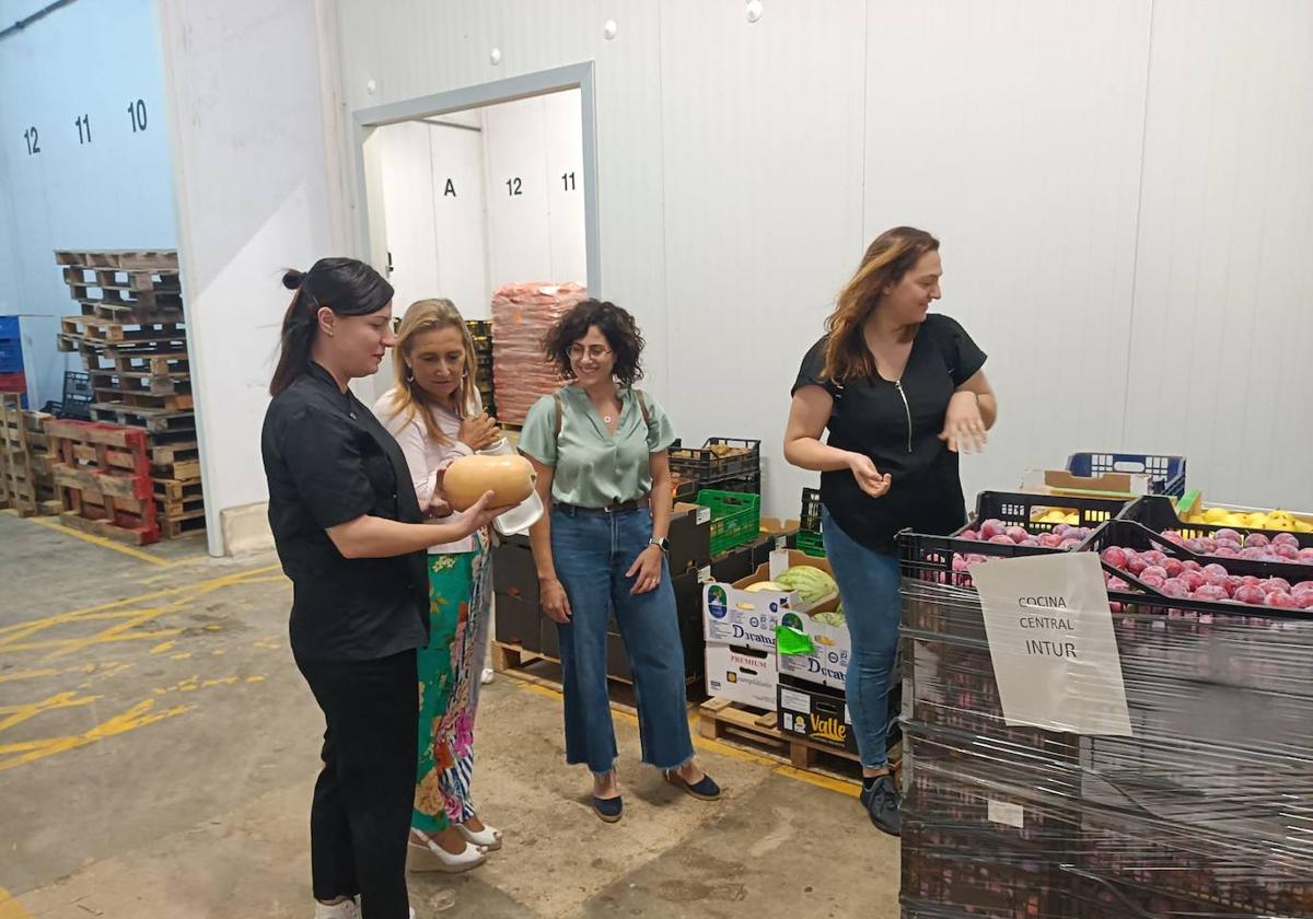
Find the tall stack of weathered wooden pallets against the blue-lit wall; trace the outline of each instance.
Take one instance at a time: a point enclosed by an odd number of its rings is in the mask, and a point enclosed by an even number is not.
[[[202,530],[177,252],[63,251],[55,261],[80,307],[62,320],[59,348],[83,357],[92,420],[146,432],[160,538]]]

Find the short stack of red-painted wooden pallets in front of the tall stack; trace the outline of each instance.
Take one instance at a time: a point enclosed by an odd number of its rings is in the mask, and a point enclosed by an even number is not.
[[[46,435],[67,525],[131,545],[159,541],[144,431],[53,420]]]

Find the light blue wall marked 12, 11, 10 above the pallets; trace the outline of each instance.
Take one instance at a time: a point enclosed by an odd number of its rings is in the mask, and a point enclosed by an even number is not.
[[[3,0],[0,26],[45,5]],[[0,39],[0,315],[79,311],[54,249],[177,247],[163,89],[154,0],[80,0]],[[140,131],[127,113],[137,100]],[[56,389],[58,368],[81,369],[54,333],[33,347]]]

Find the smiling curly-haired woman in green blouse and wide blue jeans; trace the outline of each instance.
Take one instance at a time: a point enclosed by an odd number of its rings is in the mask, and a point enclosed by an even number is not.
[[[642,335],[613,303],[587,299],[548,333],[548,360],[571,381],[540,399],[520,450],[551,513],[529,530],[542,610],[561,634],[566,761],[587,764],[592,806],[613,823],[622,801],[607,695],[607,620],[614,612],[634,672],[643,761],[696,798],[720,786],[693,759],[684,652],[666,565],[670,419],[633,387]]]

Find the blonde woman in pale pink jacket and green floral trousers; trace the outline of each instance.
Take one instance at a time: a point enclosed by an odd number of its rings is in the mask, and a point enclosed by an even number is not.
[[[400,444],[420,507],[458,520],[441,474],[502,437],[482,410],[474,343],[450,301],[412,303],[397,333],[397,385],[374,414]],[[487,650],[492,578],[488,533],[428,554],[432,635],[419,651],[419,765],[411,818],[411,870],[465,872],[502,847],[470,800],[474,714]]]

